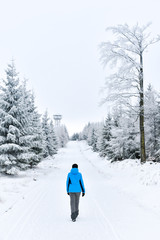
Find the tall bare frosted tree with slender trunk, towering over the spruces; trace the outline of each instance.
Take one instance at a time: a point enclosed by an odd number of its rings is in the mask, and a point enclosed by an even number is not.
[[[112,42],[103,42],[100,45],[101,63],[104,66],[116,67],[106,78],[108,89],[106,101],[117,101],[132,107],[132,100],[138,97],[137,108],[140,128],[141,163],[146,161],[145,133],[144,133],[144,77],[143,55],[147,48],[160,41],[160,36],[152,38],[148,27],[136,24],[130,28],[127,24],[109,27],[114,39]],[[111,68],[110,68],[111,69]],[[110,70],[111,71],[111,70]]]

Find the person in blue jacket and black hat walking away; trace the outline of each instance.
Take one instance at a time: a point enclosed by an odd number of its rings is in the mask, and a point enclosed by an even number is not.
[[[82,192],[82,197],[85,195],[85,187],[82,174],[78,170],[78,165],[74,163],[71,171],[68,173],[66,181],[67,194],[70,196],[71,219],[76,221],[79,215],[79,198]]]

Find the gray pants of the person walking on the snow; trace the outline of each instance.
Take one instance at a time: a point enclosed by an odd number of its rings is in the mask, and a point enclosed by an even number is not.
[[[79,214],[79,198],[80,192],[69,193],[70,196],[70,205],[71,205],[71,218],[76,219]]]

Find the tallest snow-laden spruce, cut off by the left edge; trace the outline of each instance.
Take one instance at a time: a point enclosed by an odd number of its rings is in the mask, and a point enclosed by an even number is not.
[[[22,125],[19,121],[21,91],[14,62],[8,64],[0,96],[0,171],[16,173],[18,156],[24,151],[19,144]]]

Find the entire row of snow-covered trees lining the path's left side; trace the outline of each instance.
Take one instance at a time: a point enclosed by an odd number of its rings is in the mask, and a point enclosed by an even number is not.
[[[20,82],[14,62],[0,87],[0,172],[16,174],[53,156],[68,141],[65,126],[55,129],[47,111],[42,116],[34,94]]]

